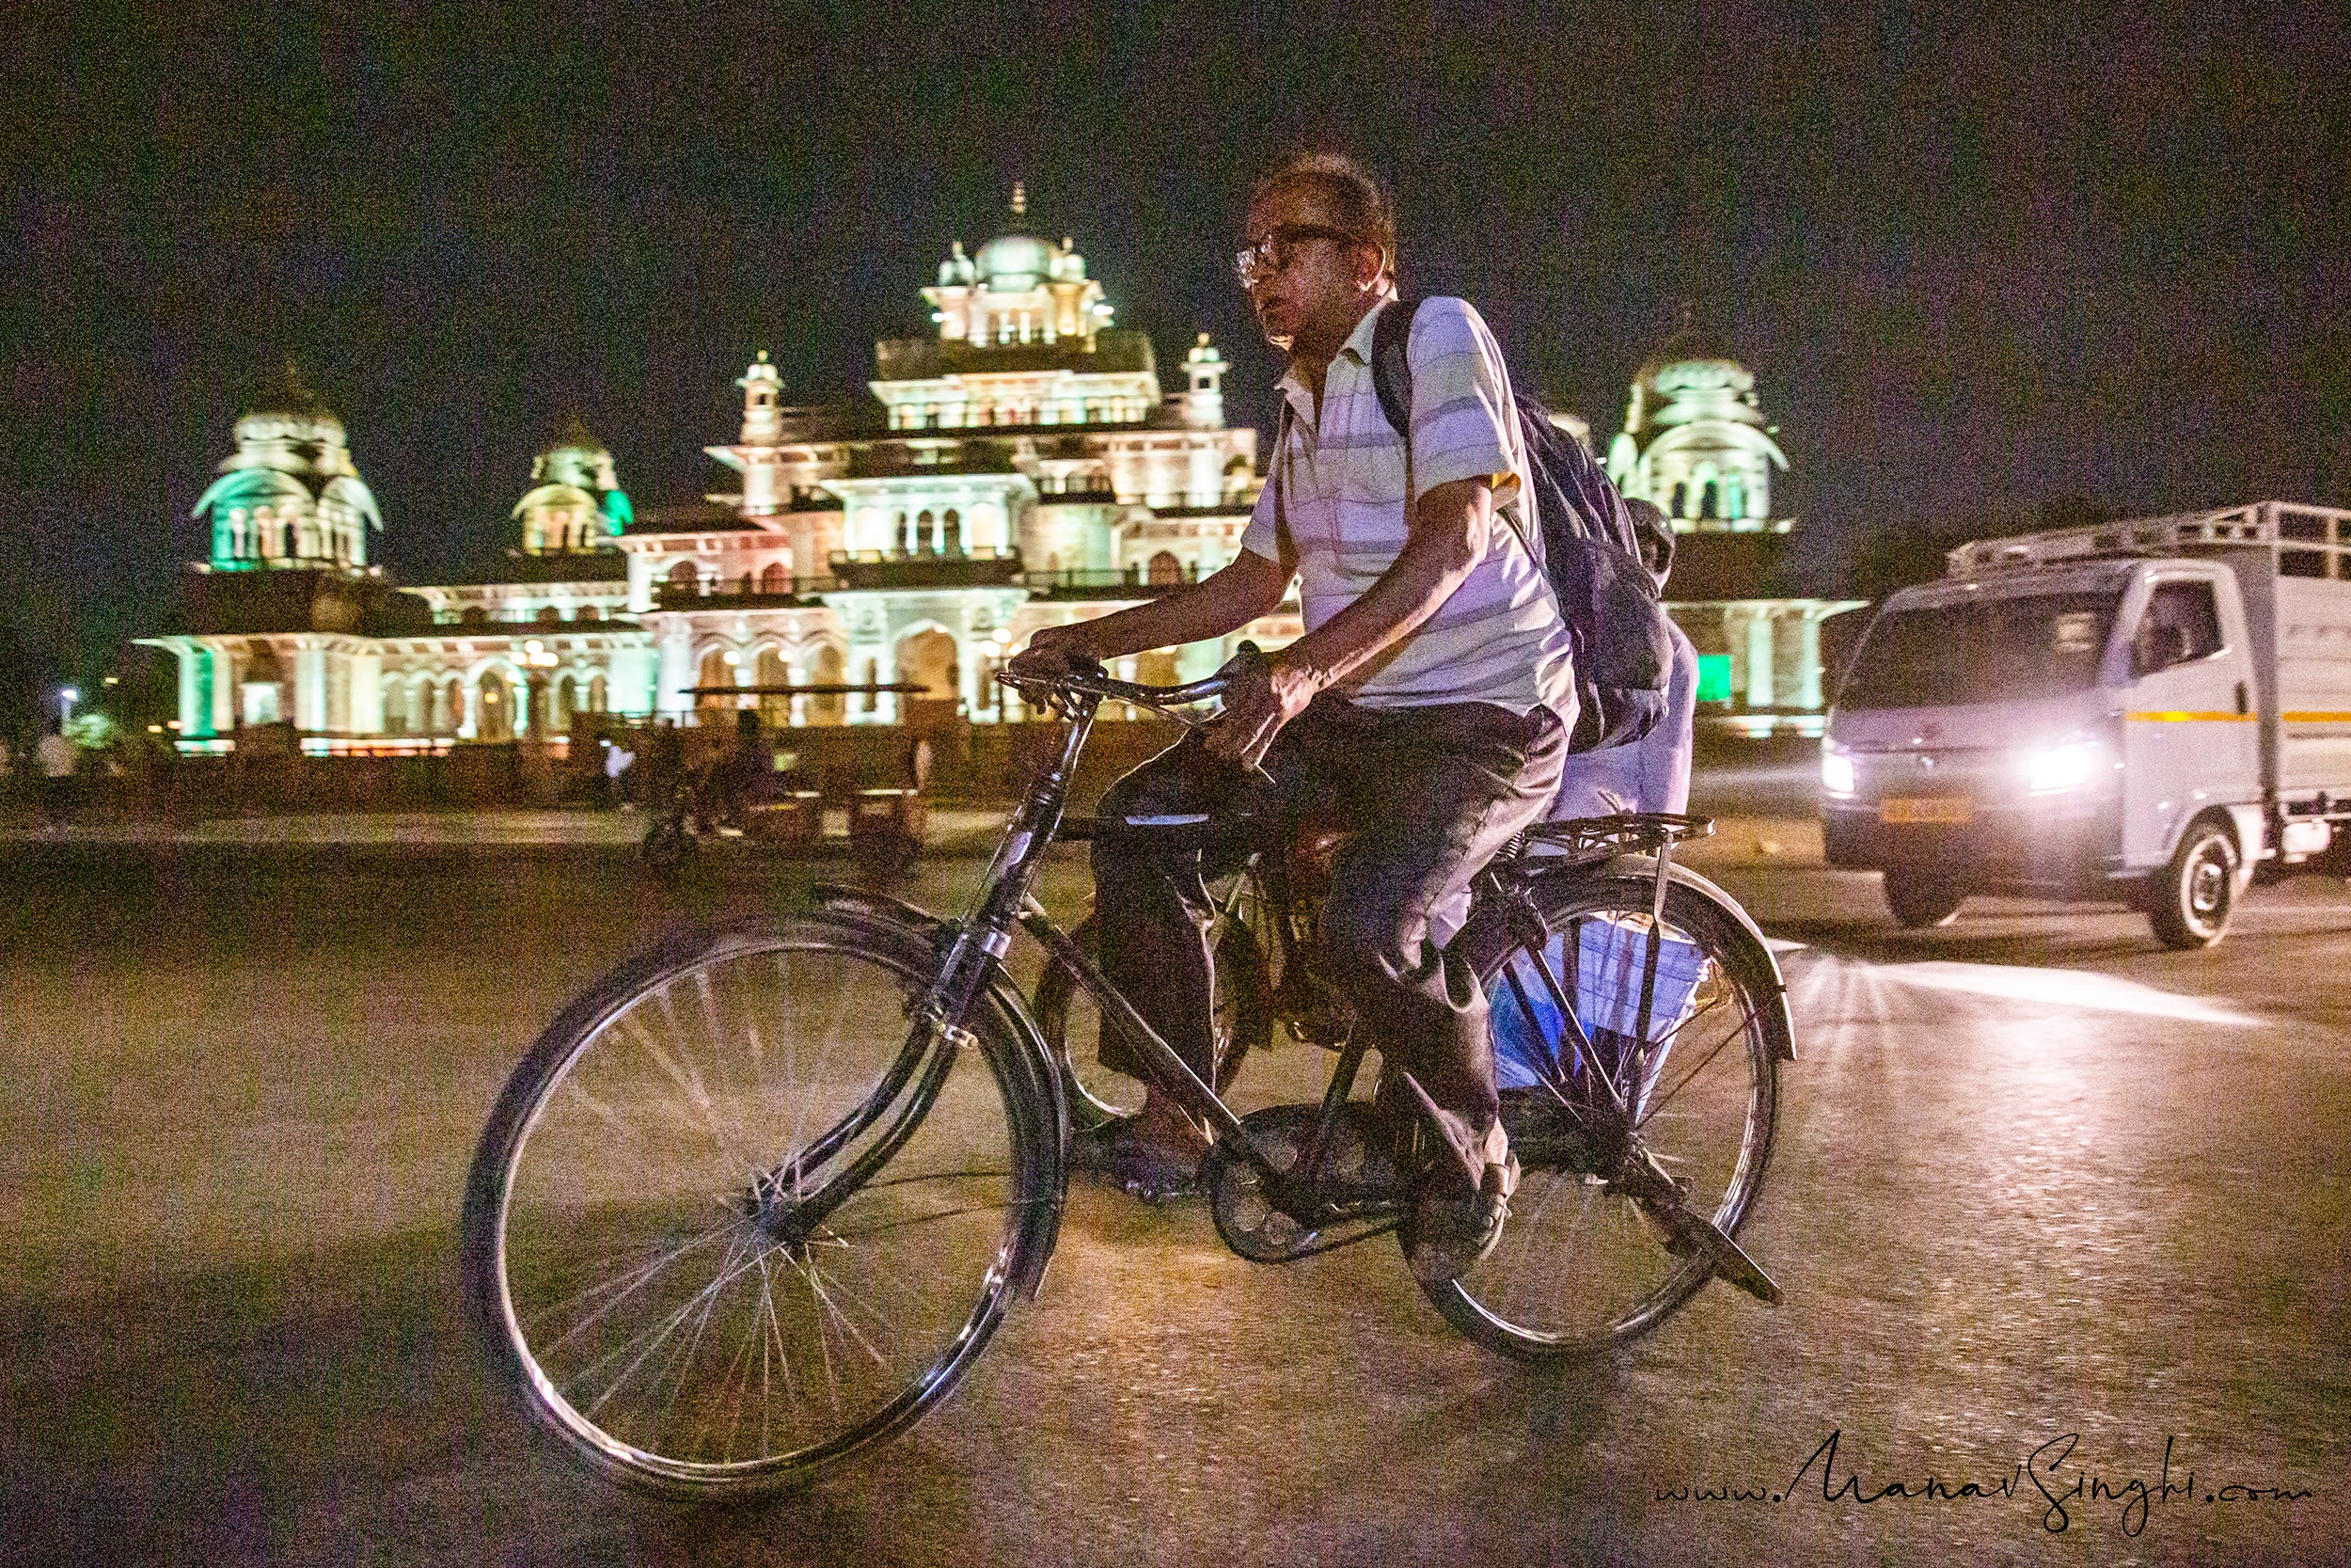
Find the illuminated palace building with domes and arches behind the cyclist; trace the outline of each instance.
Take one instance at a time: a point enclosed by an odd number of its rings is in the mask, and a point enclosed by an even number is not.
[[[609,451],[564,430],[520,487],[515,545],[477,581],[383,576],[383,520],[343,425],[289,376],[237,421],[195,505],[212,559],[188,574],[181,628],[148,639],[179,656],[181,745],[228,750],[261,724],[289,724],[310,752],[557,741],[590,712],[1023,717],[990,677],[1032,630],[1215,571],[1260,487],[1206,334],[1166,393],[1086,259],[1025,233],[1023,209],[1016,186],[1006,233],[950,249],[922,292],[936,334],[877,346],[870,402],[783,407],[762,353],[738,378],[738,437],[708,447],[736,475],[729,494],[637,512]],[[1749,726],[1817,715],[1813,628],[1834,609],[1740,597],[1787,529],[1766,522],[1773,465],[1751,378],[1707,357],[1643,367],[1610,451],[1627,494],[1690,529],[1676,616],[1714,712]],[[1124,672],[1192,679],[1239,637],[1295,635],[1279,614]]]

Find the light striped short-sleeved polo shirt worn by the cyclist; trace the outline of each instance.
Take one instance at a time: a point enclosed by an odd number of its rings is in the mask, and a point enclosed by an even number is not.
[[[1382,301],[1364,313],[1324,376],[1321,418],[1295,374],[1281,378],[1288,440],[1241,534],[1241,548],[1281,559],[1274,491],[1295,550],[1307,630],[1354,604],[1404,550],[1404,437],[1371,386],[1371,331]],[[1559,599],[1519,529],[1528,494],[1509,371],[1467,301],[1420,303],[1406,341],[1413,364],[1411,484],[1425,496],[1453,480],[1498,480],[1486,555],[1434,616],[1338,691],[1366,708],[1498,703],[1512,712],[1549,705],[1575,724],[1575,679]],[[1516,527],[1512,527],[1516,524]]]

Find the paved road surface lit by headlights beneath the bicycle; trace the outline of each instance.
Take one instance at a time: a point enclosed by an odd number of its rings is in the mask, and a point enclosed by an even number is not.
[[[943,1413],[806,1497],[696,1516],[517,1441],[454,1309],[454,1215],[557,1006],[773,889],[663,889],[595,853],[0,853],[5,1561],[2351,1552],[2339,886],[2262,891],[2196,957],[2121,912],[2015,903],[1897,936],[1801,827],[1740,825],[1714,865],[1794,943],[1803,1060],[1749,1232],[1782,1309],[1714,1288],[1622,1361],[1526,1373],[1385,1246],[1253,1269],[1197,1208],[1084,1190],[1044,1298]],[[915,893],[952,907],[973,870]],[[1317,1072],[1288,1048],[1253,1093]],[[1817,1458],[1777,1505],[1669,1495],[1789,1490],[1829,1434],[1831,1488],[2015,1495],[1824,1500]],[[2196,1490],[2144,1521],[2085,1495],[2052,1514],[2017,1472],[2156,1486],[2168,1439]]]

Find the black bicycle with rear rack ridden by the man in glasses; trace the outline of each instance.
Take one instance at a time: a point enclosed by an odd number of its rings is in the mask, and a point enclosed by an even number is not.
[[[945,1399],[1037,1293],[1070,1105],[1002,961],[1016,929],[1215,1128],[1201,1180],[1227,1246],[1411,1246],[1411,1199],[1364,1180],[1368,1041],[1340,1046],[1321,1105],[1239,1117],[1032,896],[1100,703],[1185,717],[1225,677],[1027,686],[1067,733],[962,919],[820,889],[672,938],[508,1081],[465,1187],[465,1295],[531,1420],[602,1476],[684,1500],[802,1483]],[[1794,1058],[1787,997],[1744,912],[1672,858],[1704,830],[1554,823],[1479,877],[1455,943],[1526,1077],[1505,1086],[1523,1178],[1495,1253],[1422,1291],[1491,1349],[1599,1354],[1716,1274],[1780,1298],[1733,1237]]]

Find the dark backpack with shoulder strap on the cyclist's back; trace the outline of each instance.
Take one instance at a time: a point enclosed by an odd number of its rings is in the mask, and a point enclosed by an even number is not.
[[[1399,299],[1371,329],[1371,388],[1380,411],[1413,440],[1413,364],[1406,343],[1420,301]],[[1665,679],[1674,665],[1657,578],[1641,564],[1641,541],[1625,496],[1582,442],[1552,423],[1552,411],[1519,393],[1519,440],[1533,480],[1526,545],[1559,599],[1575,649],[1575,729],[1570,752],[1632,745],[1665,717]]]

